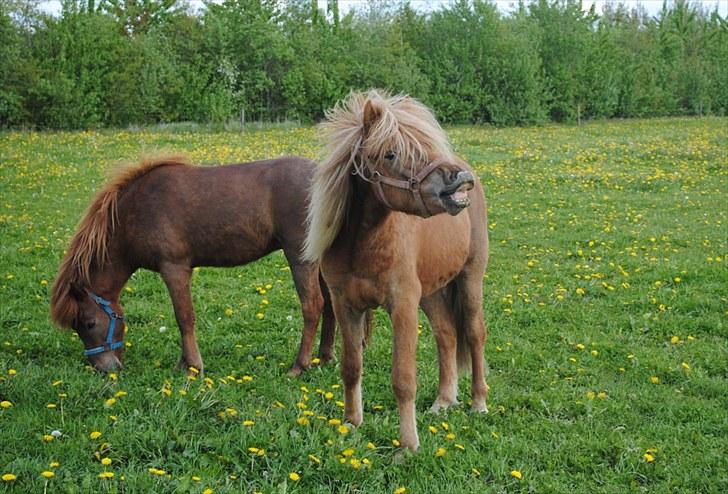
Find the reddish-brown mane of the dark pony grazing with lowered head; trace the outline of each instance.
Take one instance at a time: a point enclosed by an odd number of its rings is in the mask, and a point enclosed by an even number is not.
[[[91,268],[102,266],[108,255],[108,243],[117,222],[116,202],[128,184],[160,166],[188,165],[184,156],[157,156],[122,168],[104,185],[71,239],[51,292],[51,317],[61,327],[69,328],[78,315],[78,302],[72,290],[83,290],[91,283]]]

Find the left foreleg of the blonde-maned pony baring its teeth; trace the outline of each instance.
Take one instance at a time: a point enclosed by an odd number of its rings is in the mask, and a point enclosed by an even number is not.
[[[344,419],[354,426],[363,420],[361,375],[366,312],[346,307],[334,298],[334,313],[341,328],[341,378],[344,381]]]

